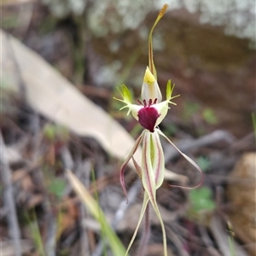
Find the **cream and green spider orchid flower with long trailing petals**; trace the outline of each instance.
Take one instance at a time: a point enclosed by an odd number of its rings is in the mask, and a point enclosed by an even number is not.
[[[154,26],[158,23],[160,18],[165,14],[167,9],[167,5],[160,10],[160,14],[154,22]],[[165,175],[165,156],[163,152],[163,148],[160,143],[160,136],[165,137],[169,143],[172,143],[166,135],[162,131],[160,131],[158,125],[160,125],[161,121],[166,117],[168,112],[169,104],[176,105],[176,103],[172,102],[173,98],[177,96],[172,96],[172,91],[174,89],[174,85],[172,85],[171,80],[168,80],[166,85],[166,100],[162,101],[162,96],[160,92],[159,84],[157,83],[156,70],[154,67],[153,61],[153,48],[152,48],[152,33],[154,30],[154,26],[152,27],[149,38],[148,38],[148,67],[146,68],[143,86],[142,86],[142,101],[138,101],[139,104],[131,103],[131,93],[125,84],[119,87],[119,92],[123,99],[116,99],[120,102],[124,102],[125,106],[123,108],[128,108],[127,114],[132,114],[135,119],[143,126],[144,130],[142,134],[137,138],[136,143],[131,149],[131,153],[127,156],[125,162],[121,166],[120,171],[120,183],[122,188],[124,189],[125,195],[127,197],[126,189],[125,189],[125,166],[129,162],[129,160],[133,160],[135,169],[137,171],[138,176],[142,180],[143,189],[144,189],[144,197],[143,197],[143,207],[140,213],[137,228],[134,232],[134,235],[131,238],[131,242],[127,248],[125,256],[128,254],[128,251],[131,248],[135,237],[137,236],[137,230],[142,222],[143,215],[145,214],[148,208],[148,202],[150,201],[152,207],[154,208],[154,212],[160,220],[160,225],[163,234],[163,245],[164,245],[164,255],[167,256],[167,243],[166,243],[166,230],[163,223],[163,220],[160,215],[160,210],[156,201],[156,190],[160,188],[161,184],[164,182]],[[120,108],[120,109],[123,109]],[[133,154],[137,151],[137,148],[143,145],[142,151],[142,165],[139,166],[137,161],[133,158]],[[172,145],[177,149],[177,151],[183,155],[186,160],[195,166],[200,172],[201,169],[199,166],[195,164],[193,160],[191,160],[186,154],[183,154],[173,143]],[[127,199],[128,201],[128,199]]]

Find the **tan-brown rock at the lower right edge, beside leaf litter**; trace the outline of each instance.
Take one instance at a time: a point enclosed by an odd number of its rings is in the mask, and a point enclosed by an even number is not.
[[[255,255],[256,242],[256,154],[247,153],[238,160],[230,178],[237,180],[227,189],[228,200],[232,204],[230,221],[236,236],[250,244],[248,249]]]

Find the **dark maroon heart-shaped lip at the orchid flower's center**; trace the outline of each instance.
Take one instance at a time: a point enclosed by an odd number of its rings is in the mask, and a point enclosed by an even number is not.
[[[156,123],[156,120],[160,117],[160,114],[157,112],[157,110],[154,107],[151,107],[151,105],[155,104],[156,101],[157,99],[155,99],[154,102],[152,102],[152,100],[149,100],[147,104],[147,102],[143,100],[143,103],[140,103],[144,105],[144,108],[139,110],[139,112],[137,113],[139,123],[145,129],[151,132],[154,132],[154,125]]]

